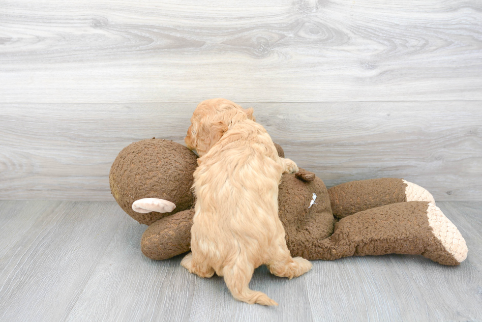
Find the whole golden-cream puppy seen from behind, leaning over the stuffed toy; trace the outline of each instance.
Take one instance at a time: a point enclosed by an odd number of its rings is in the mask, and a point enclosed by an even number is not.
[[[253,109],[226,99],[201,102],[191,117],[186,145],[200,158],[194,172],[195,215],[191,251],[181,265],[201,277],[224,276],[233,296],[247,303],[277,305],[248,288],[256,267],[293,278],[311,263],[292,258],[278,217],[278,184],[298,171],[280,158]]]

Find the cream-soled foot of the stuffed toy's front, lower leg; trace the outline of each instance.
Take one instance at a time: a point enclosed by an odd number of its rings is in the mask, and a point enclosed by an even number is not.
[[[433,203],[428,204],[427,218],[433,238],[422,255],[444,265],[463,262],[467,258],[468,249],[457,227]]]

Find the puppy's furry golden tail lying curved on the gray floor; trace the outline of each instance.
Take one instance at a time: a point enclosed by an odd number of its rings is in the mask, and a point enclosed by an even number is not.
[[[249,304],[278,305],[265,293],[248,288],[254,269],[249,263],[242,266],[240,264],[240,262],[237,262],[233,265],[226,265],[223,268],[224,282],[233,297]]]

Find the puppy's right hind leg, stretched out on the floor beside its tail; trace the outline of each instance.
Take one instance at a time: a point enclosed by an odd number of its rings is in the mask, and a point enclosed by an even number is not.
[[[283,241],[284,237],[278,245]],[[302,257],[291,257],[286,242],[284,245],[272,246],[271,261],[267,265],[271,274],[289,279],[303,275],[312,267],[311,263]]]

